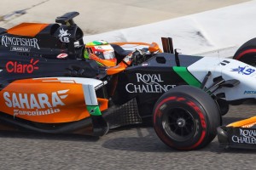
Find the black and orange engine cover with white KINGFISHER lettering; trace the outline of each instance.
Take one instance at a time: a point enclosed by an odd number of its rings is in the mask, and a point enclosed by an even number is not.
[[[63,15],[56,19],[57,23],[72,20],[78,13]],[[41,23],[21,23],[8,30],[0,29],[1,47],[0,54],[17,54],[19,56],[43,57],[45,59],[57,58],[59,54],[67,54],[69,58],[78,56],[83,44],[83,31],[73,24],[72,29],[67,25]],[[73,42],[79,42],[74,47]]]

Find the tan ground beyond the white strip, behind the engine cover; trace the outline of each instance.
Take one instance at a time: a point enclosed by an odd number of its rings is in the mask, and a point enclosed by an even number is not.
[[[92,35],[244,2],[247,0],[1,0],[0,26],[52,23],[61,14],[78,11],[76,22],[84,35]]]

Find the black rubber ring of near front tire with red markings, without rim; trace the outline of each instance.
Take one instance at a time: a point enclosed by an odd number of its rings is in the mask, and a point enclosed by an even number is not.
[[[166,105],[161,110],[162,105]],[[168,109],[167,109],[168,107]],[[194,118],[194,134],[185,141],[172,139],[163,127],[163,117],[172,108],[181,107]],[[216,136],[216,128],[220,125],[218,106],[215,101],[199,88],[182,86],[162,95],[154,106],[154,130],[160,139],[177,150],[199,149]]]

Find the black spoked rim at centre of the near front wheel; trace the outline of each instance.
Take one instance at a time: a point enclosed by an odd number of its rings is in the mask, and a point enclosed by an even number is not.
[[[183,108],[166,111],[162,126],[170,138],[181,142],[190,139],[195,134],[195,119],[189,111]]]

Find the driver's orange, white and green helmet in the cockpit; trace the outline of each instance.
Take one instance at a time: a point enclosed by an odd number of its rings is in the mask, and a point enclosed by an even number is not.
[[[85,44],[85,59],[94,59],[99,65],[115,66],[116,58],[113,47],[106,41],[93,41]]]

